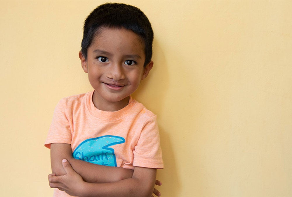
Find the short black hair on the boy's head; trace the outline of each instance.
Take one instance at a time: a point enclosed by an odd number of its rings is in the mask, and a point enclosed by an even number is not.
[[[137,7],[124,3],[105,3],[95,8],[85,19],[81,52],[87,59],[87,49],[101,27],[125,28],[144,41],[146,66],[152,58],[153,30],[147,16]]]

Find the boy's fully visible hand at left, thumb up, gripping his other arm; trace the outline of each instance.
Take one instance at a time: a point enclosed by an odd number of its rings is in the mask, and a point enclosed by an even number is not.
[[[48,175],[51,188],[59,188],[71,196],[82,196],[82,187],[85,183],[82,177],[74,171],[67,159],[62,160],[65,175],[56,176],[54,173]]]

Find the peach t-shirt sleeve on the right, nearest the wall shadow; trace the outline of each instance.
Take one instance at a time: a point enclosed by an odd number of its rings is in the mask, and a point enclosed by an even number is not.
[[[152,116],[145,123],[133,153],[133,166],[164,168],[156,116]]]

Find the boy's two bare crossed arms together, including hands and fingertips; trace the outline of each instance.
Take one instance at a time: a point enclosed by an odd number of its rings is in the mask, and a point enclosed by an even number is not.
[[[152,192],[160,195],[154,189],[156,169],[129,170],[91,164],[74,159],[70,144],[51,144],[51,167],[50,186],[72,196],[151,196]]]

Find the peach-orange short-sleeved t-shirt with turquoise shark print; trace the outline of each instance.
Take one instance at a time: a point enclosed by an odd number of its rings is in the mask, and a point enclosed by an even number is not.
[[[45,146],[71,144],[73,157],[95,164],[134,169],[164,168],[156,116],[130,96],[119,111],[101,111],[93,92],[57,104]]]

